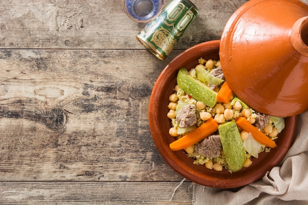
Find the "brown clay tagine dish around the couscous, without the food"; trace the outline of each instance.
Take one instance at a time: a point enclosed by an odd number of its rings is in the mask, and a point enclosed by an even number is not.
[[[267,171],[282,160],[291,146],[295,128],[296,116],[285,118],[285,128],[276,140],[277,147],[271,152],[262,152],[259,158],[252,159],[252,165],[233,174],[223,171],[209,170],[204,165],[193,164],[193,158],[187,157],[184,150],[172,151],[169,144],[176,138],[169,135],[171,127],[167,117],[169,95],[176,85],[178,70],[182,67],[191,69],[204,59],[219,59],[219,40],[197,44],[173,59],[159,75],[149,104],[149,123],[155,146],[167,164],[178,174],[195,183],[216,188],[234,188],[244,186],[263,177]]]

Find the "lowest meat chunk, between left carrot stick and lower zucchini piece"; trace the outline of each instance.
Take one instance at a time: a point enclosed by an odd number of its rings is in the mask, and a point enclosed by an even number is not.
[[[220,155],[220,150],[222,148],[220,136],[212,135],[204,140],[202,140],[197,146],[195,146],[195,151],[202,154],[205,157],[218,157]]]

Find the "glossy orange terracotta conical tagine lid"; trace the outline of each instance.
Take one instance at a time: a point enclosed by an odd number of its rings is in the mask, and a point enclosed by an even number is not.
[[[250,0],[228,20],[219,57],[234,93],[261,113],[308,110],[308,5]]]

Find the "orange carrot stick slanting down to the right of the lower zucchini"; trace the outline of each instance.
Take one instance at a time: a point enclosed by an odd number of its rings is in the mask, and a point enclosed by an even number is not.
[[[275,148],[276,143],[268,138],[263,132],[259,131],[257,127],[250,124],[245,117],[239,117],[235,120],[236,124],[246,132],[250,132],[252,137],[260,144]]]

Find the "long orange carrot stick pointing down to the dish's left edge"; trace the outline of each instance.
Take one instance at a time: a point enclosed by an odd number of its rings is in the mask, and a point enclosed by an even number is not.
[[[213,118],[210,118],[206,122],[204,122],[202,125],[194,129],[193,131],[189,132],[184,137],[171,143],[169,146],[171,150],[173,151],[185,149],[188,146],[192,146],[195,143],[208,137],[210,134],[215,132],[217,129],[218,129],[218,123]]]

